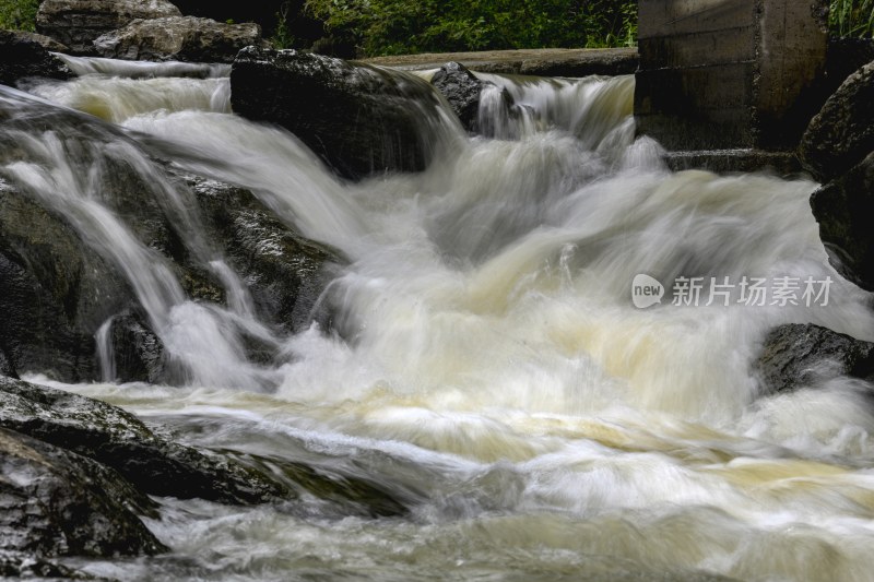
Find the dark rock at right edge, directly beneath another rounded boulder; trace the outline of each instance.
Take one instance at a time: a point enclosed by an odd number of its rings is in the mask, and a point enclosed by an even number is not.
[[[874,152],[811,197],[829,262],[845,277],[874,292]]]

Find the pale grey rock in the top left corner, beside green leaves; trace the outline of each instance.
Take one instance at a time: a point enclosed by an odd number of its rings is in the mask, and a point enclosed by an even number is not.
[[[44,0],[36,29],[70,47],[72,55],[94,55],[94,39],[109,31],[137,19],[181,15],[166,0]]]

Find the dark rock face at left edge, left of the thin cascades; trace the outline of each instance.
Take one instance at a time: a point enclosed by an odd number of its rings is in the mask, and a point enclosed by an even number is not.
[[[13,370],[95,378],[94,332],[132,300],[72,227],[0,180],[0,342]]]

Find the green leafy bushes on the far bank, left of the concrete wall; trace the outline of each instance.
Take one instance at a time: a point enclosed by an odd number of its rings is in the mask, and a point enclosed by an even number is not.
[[[307,0],[367,56],[634,46],[634,0]]]

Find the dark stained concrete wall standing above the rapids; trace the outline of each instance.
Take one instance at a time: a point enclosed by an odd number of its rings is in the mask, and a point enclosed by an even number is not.
[[[674,151],[794,145],[825,67],[826,4],[640,0],[638,132]]]

